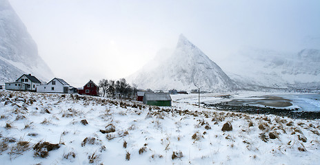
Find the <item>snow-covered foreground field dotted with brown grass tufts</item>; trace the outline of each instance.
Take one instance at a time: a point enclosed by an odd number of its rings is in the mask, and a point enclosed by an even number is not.
[[[1,164],[320,164],[319,120],[199,109],[192,95],[172,96],[172,107],[14,91],[0,97]],[[226,122],[232,131],[221,130]]]

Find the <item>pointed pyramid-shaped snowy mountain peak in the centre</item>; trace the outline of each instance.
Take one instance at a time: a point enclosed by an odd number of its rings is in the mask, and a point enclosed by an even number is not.
[[[130,79],[143,89],[228,91],[236,88],[223,70],[193,45],[183,34],[179,36],[173,54],[158,56]]]

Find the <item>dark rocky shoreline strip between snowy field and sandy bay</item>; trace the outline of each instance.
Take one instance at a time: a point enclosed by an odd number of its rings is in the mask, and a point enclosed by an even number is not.
[[[297,111],[299,109],[279,109],[272,107],[257,107],[246,104],[228,104],[228,102],[222,102],[217,104],[206,104],[202,102],[205,107],[214,107],[221,111],[234,111],[234,112],[242,112],[242,113],[250,113],[250,114],[266,114],[266,115],[279,115],[286,116],[288,118],[293,119],[320,119],[320,112],[316,111]]]

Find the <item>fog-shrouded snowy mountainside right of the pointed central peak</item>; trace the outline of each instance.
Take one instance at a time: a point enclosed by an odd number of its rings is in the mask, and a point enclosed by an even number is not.
[[[320,89],[317,86],[320,82],[319,64],[320,50],[317,49],[296,53],[245,49],[230,59],[229,65],[234,67],[226,69],[229,69],[227,73],[232,80],[246,88]]]

